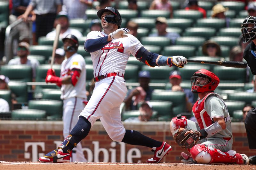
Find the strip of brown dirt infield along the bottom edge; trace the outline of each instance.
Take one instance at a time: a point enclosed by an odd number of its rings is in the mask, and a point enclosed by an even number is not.
[[[45,169],[57,169],[57,170],[71,170],[71,169],[138,169],[138,170],[249,170],[256,169],[256,165],[202,165],[202,164],[181,164],[181,163],[158,163],[158,164],[145,164],[145,163],[89,163],[89,162],[73,162],[73,163],[56,163],[47,164],[39,162],[5,162],[0,161],[0,170],[45,170]]]

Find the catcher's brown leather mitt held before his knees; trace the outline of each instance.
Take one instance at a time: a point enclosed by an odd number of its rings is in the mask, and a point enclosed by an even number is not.
[[[193,130],[194,133],[188,133],[188,135],[185,136],[185,133],[189,130],[191,129],[179,128],[173,136],[176,143],[183,149],[192,148],[199,140],[199,132],[196,130]]]

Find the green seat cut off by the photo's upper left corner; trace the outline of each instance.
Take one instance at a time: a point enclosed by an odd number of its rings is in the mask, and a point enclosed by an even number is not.
[[[0,2],[0,30],[6,28],[9,25],[9,2]]]

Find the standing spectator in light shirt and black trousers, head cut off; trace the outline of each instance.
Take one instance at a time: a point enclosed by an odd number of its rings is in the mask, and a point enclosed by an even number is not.
[[[36,14],[36,43],[38,38],[52,31],[56,14],[61,11],[60,0],[31,0],[24,14],[19,18],[28,19],[31,11]]]

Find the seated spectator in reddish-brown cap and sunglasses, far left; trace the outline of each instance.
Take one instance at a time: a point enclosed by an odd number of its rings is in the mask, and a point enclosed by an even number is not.
[[[8,65],[20,65],[20,64],[30,65],[33,70],[33,81],[35,81],[36,67],[39,65],[39,62],[36,59],[28,59],[28,54],[29,54],[29,44],[25,41],[20,42],[18,44],[18,50],[17,50],[17,55],[19,57],[11,59]]]

